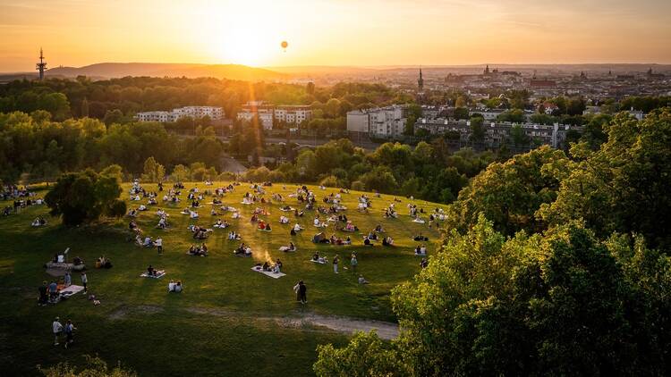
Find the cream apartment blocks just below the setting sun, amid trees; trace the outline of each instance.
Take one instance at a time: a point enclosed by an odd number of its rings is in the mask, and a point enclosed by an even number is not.
[[[264,130],[272,130],[277,121],[288,124],[301,124],[303,121],[312,119],[312,108],[310,105],[269,105],[263,101],[250,101],[242,105],[242,110],[238,112],[239,121],[251,121],[254,117],[259,118],[259,122]]]

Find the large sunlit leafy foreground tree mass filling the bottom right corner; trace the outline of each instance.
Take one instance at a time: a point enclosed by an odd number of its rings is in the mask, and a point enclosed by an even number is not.
[[[666,374],[671,259],[576,222],[506,239],[480,215],[393,289],[399,338],[319,348],[319,375]],[[667,290],[668,292],[668,290]],[[661,331],[661,336],[649,336]],[[392,368],[392,369],[390,369]],[[361,375],[361,374],[355,374]]]

